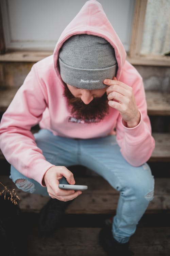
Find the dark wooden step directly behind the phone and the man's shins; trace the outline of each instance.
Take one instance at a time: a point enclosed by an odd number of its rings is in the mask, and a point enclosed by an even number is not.
[[[75,177],[77,184],[88,186],[82,195],[71,202],[66,214],[115,214],[119,193],[102,177]],[[29,194],[18,189],[8,176],[0,176],[0,182],[8,189],[16,189],[23,212],[38,213],[49,197]],[[155,179],[154,199],[146,213],[170,213],[170,178]],[[0,186],[1,188],[2,185]]]

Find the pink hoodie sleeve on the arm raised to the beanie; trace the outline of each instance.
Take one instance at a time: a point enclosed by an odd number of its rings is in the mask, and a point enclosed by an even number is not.
[[[147,115],[147,103],[142,78],[132,84],[136,103],[140,112],[140,122],[136,127],[128,128],[119,115],[116,127],[116,139],[122,156],[133,166],[140,166],[151,157],[155,147],[151,136],[151,124]]]

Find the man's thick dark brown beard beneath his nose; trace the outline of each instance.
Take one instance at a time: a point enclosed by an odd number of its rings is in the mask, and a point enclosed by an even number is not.
[[[89,104],[77,97],[74,97],[67,85],[64,83],[64,94],[70,106],[71,114],[74,118],[83,120],[85,123],[100,122],[109,113],[107,94],[94,98]]]

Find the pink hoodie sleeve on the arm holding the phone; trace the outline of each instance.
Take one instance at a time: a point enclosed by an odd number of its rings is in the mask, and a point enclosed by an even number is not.
[[[46,161],[30,130],[39,123],[47,106],[46,86],[38,79],[33,65],[0,124],[0,147],[6,160],[42,186],[45,172],[53,165]]]

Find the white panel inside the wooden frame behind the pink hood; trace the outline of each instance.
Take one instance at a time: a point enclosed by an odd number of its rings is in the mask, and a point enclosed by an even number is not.
[[[8,49],[53,50],[64,28],[86,0],[1,0]],[[129,50],[135,0],[99,0]]]

